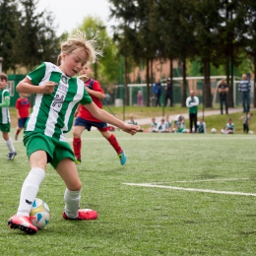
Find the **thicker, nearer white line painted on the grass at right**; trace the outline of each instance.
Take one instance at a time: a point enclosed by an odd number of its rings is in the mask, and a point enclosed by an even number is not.
[[[153,185],[153,184],[149,184],[149,183],[123,183],[123,184],[128,185],[128,186],[167,188],[167,189],[185,190],[185,191],[192,191],[192,192],[203,192],[203,193],[212,193],[212,194],[225,194],[225,195],[238,195],[238,196],[253,196],[253,197],[256,197],[256,194],[253,194],[253,193],[218,191],[218,190],[211,190],[211,189],[172,187],[172,186]]]

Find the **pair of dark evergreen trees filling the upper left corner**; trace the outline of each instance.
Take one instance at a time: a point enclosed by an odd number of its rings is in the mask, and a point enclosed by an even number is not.
[[[0,1],[0,56],[3,70],[18,66],[32,69],[42,61],[55,62],[59,38],[55,35],[53,16],[36,12],[38,0]]]

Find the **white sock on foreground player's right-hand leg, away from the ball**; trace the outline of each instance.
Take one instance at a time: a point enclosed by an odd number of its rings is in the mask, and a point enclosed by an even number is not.
[[[70,191],[68,188],[66,188],[64,200],[66,216],[70,219],[76,219],[78,217],[78,210],[80,207],[81,190]]]

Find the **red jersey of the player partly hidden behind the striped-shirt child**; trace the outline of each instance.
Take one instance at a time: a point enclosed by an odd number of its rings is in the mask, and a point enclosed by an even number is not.
[[[85,86],[91,90],[94,90],[96,92],[100,92],[100,93],[104,94],[104,91],[101,89],[99,83],[96,80],[89,79],[87,82],[85,82]],[[101,100],[99,98],[97,98],[96,96],[91,96],[91,97],[92,97],[93,101],[96,103],[96,105],[99,108],[102,108]],[[96,117],[94,117],[94,115],[92,115],[91,112],[88,111],[87,108],[83,105],[80,105],[80,110],[79,110],[78,116],[85,120],[88,120],[88,121],[102,122],[102,121],[96,119]]]

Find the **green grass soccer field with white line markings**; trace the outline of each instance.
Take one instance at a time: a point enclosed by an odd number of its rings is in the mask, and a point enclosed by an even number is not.
[[[30,166],[21,139],[14,161],[0,140],[1,255],[256,255],[255,135],[115,135],[124,166],[98,132],[83,134],[82,207],[98,219],[62,218],[65,186],[48,165],[37,197],[51,220],[35,235],[7,226]]]

